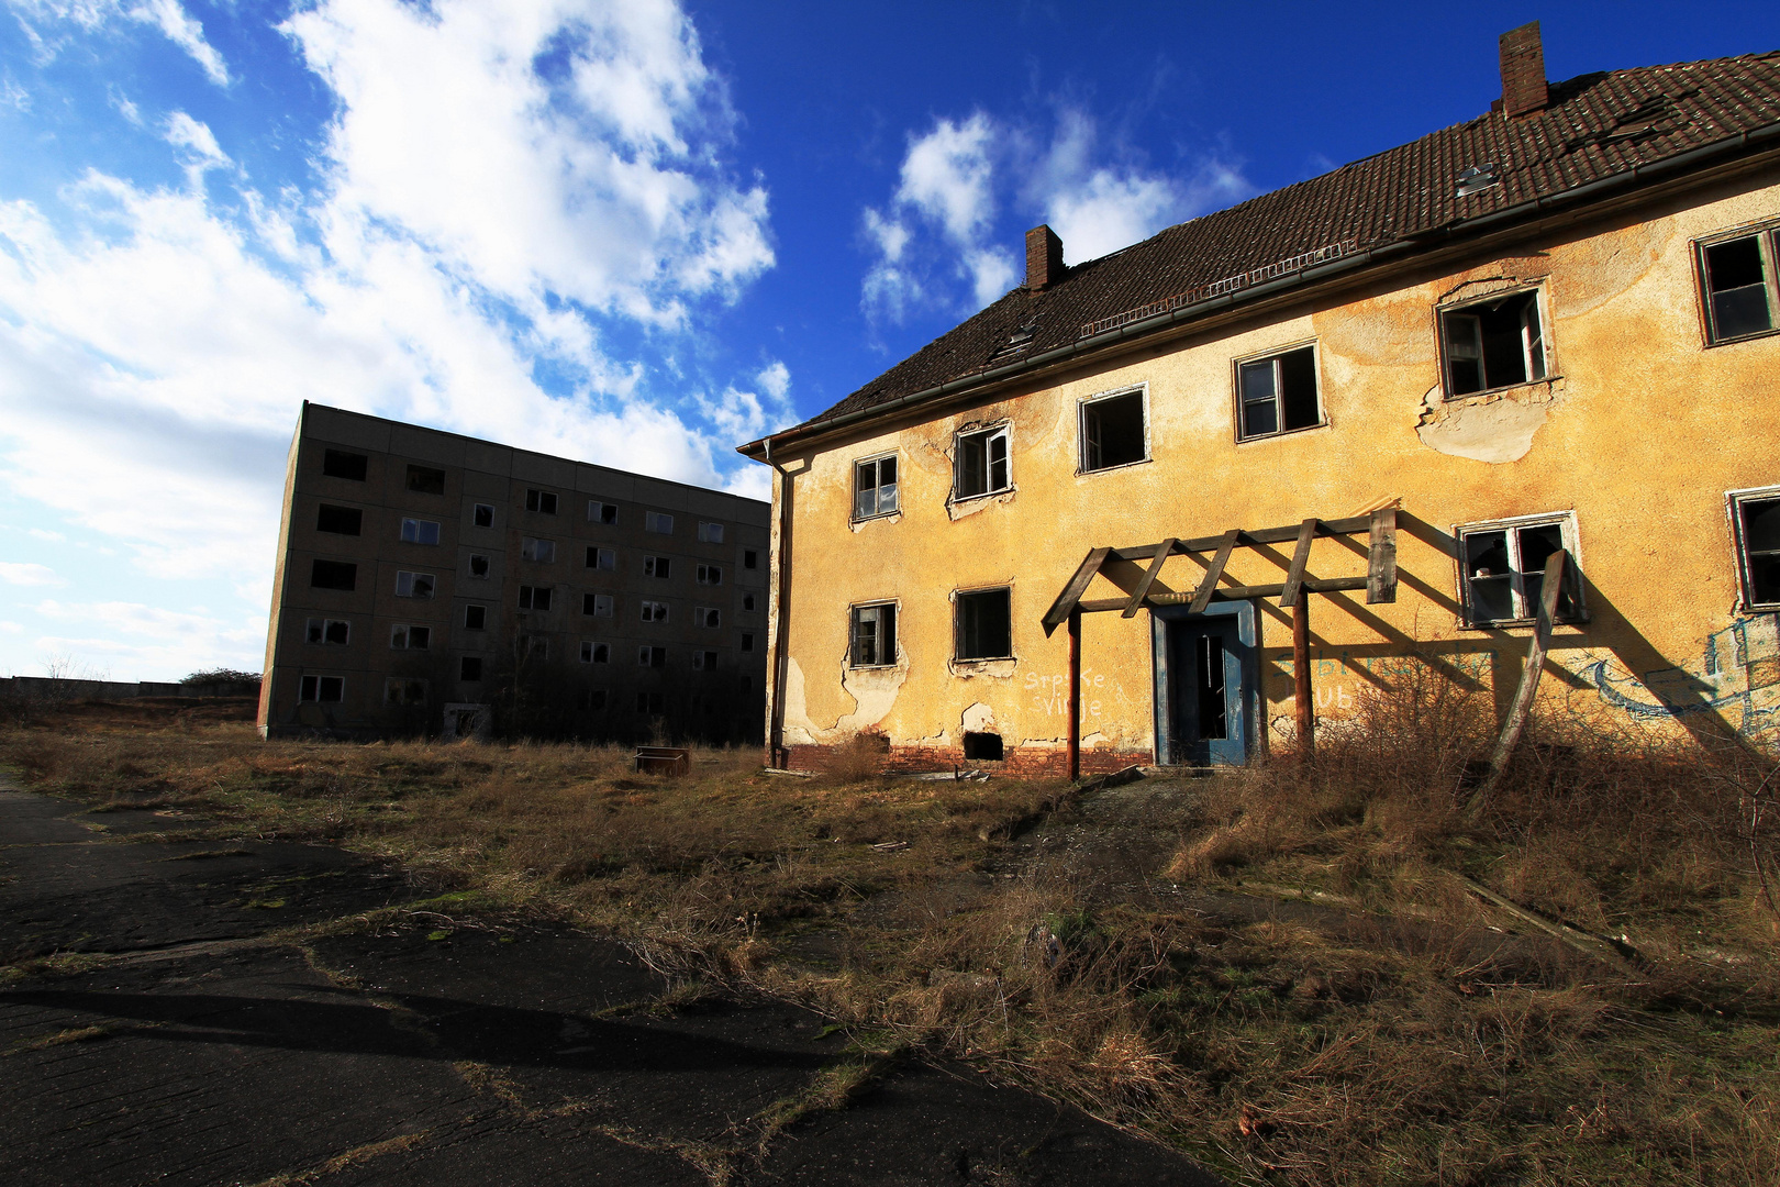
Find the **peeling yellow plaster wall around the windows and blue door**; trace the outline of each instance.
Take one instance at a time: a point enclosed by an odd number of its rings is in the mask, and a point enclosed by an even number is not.
[[[1315,596],[1319,717],[1381,687],[1415,641],[1495,687],[1520,678],[1527,628],[1458,618],[1454,525],[1574,511],[1590,621],[1561,626],[1543,696],[1618,724],[1666,724],[1670,705],[1743,731],[1780,705],[1775,616],[1739,614],[1725,493],[1780,486],[1780,336],[1703,347],[1691,240],[1780,215],[1780,185],[1743,183],[1613,226],[1575,228],[1438,274],[1399,276],[1340,304],[1175,342],[927,424],[862,432],[774,461],[792,475],[785,742],[837,742],[874,726],[897,744],[958,746],[991,730],[1011,751],[1066,737],[1066,635],[1040,618],[1093,546],[1148,545],[1353,516],[1401,500],[1394,605]],[[1540,281],[1549,370],[1499,395],[1445,400],[1435,306]],[[1326,427],[1235,441],[1232,361],[1317,343]],[[1145,384],[1152,461],[1077,473],[1077,402]],[[947,504],[959,429],[1011,425],[1011,493]],[[901,513],[849,523],[853,461],[895,450]],[[783,480],[783,479],[780,479]],[[1319,539],[1315,577],[1365,571],[1360,550]],[[1239,550],[1230,575],[1280,582],[1290,545]],[[1132,587],[1112,566],[1088,598]],[[1193,589],[1175,557],[1157,589]],[[956,589],[1013,589],[1013,650],[956,666]],[[849,671],[849,603],[899,600],[899,666]],[[1273,742],[1290,737],[1290,628],[1262,612]],[[1084,746],[1150,751],[1150,616],[1082,626]],[[1554,669],[1549,669],[1554,671]]]

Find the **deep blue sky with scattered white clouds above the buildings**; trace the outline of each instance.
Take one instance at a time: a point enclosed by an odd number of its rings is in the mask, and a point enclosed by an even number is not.
[[[263,658],[303,399],[733,447],[1066,260],[1766,4],[0,0],[0,674]]]

